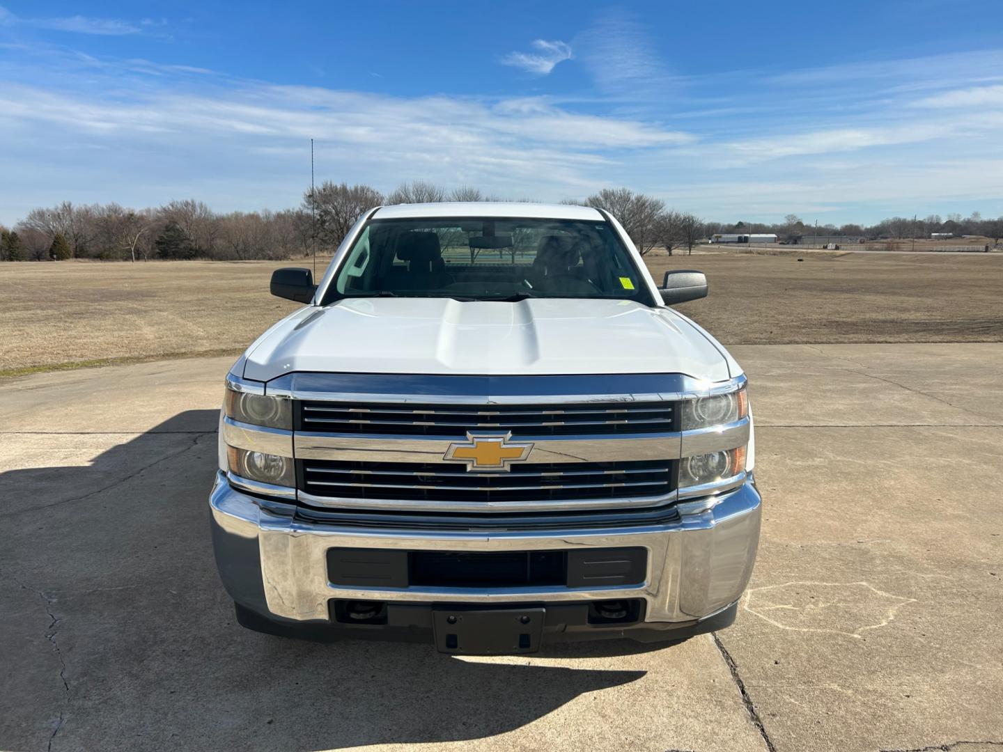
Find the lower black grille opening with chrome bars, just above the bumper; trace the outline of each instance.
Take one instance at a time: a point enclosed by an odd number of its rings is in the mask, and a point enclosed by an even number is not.
[[[300,487],[315,496],[421,501],[548,501],[664,496],[673,462],[563,462],[475,473],[442,462],[301,460]]]

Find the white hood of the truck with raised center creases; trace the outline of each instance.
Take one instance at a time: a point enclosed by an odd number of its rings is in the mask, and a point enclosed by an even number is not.
[[[244,376],[294,371],[734,375],[719,346],[671,309],[574,299],[357,298],[304,308],[249,348]]]

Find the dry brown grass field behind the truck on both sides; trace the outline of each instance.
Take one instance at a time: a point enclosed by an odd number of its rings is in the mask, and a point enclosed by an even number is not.
[[[2,264],[0,376],[236,355],[296,308],[268,294],[272,270],[308,264]],[[1003,341],[1003,254],[719,253],[648,265],[656,281],[666,269],[707,273],[710,296],[680,310],[727,345]]]

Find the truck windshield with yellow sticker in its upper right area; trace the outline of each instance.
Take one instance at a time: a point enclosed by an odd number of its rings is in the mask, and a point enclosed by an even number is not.
[[[652,305],[612,226],[571,220],[374,220],[323,303],[374,296],[611,298]]]

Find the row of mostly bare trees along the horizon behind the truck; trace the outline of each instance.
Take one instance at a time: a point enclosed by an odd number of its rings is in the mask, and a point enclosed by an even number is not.
[[[424,180],[403,183],[386,196],[370,185],[325,180],[304,192],[300,207],[281,212],[220,214],[195,200],[141,210],[118,204],[77,206],[63,202],[31,210],[10,230],[0,226],[0,261],[289,259],[308,255],[315,247],[320,253],[337,248],[352,225],[372,207],[476,201],[506,200],[472,186],[449,190]],[[609,212],[642,254],[655,248],[664,248],[669,254],[678,249],[692,252],[695,245],[715,233],[774,233],[787,242],[816,234],[904,240],[950,233],[986,236],[995,243],[1003,237],[1003,217],[983,219],[978,213],[968,218],[948,215],[943,221],[938,215],[894,217],[870,227],[837,227],[808,225],[795,215],[772,225],[705,222],[626,187],[603,189],[584,202],[566,203]]]

